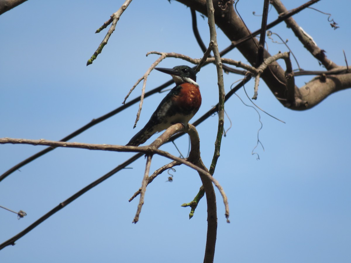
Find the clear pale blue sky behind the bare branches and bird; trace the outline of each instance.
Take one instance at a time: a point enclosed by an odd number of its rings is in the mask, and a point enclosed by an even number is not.
[[[86,61],[106,34],[94,34],[123,1],[33,1],[0,16],[0,137],[60,140],[119,107],[128,90],[157,59],[151,50],[183,53],[200,58],[192,35],[190,10],[172,1],[133,1],[98,59]],[[262,1],[241,0],[237,7],[247,26],[260,27]],[[285,1],[287,9],[304,1]],[[350,61],[348,1],[338,5],[320,1],[313,5],[331,13],[340,28],[334,31],[327,16],[307,9],[294,18],[329,59]],[[269,21],[277,18],[272,9]],[[199,31],[208,42],[207,20],[198,15]],[[305,70],[322,70],[318,62],[294,39],[285,24],[271,29],[289,46]],[[230,43],[218,29],[219,48]],[[186,43],[184,42],[186,40]],[[276,39],[277,40],[277,39]],[[286,51],[268,42],[271,54]],[[226,55],[246,60],[233,50]],[[166,59],[161,67],[186,64]],[[350,64],[350,62],[349,62]],[[293,62],[293,67],[296,63]],[[203,104],[194,117],[207,112],[218,99],[214,66],[198,73]],[[240,76],[225,75],[226,91]],[[311,77],[296,79],[298,86]],[[150,90],[169,76],[152,72]],[[246,86],[252,96],[253,81]],[[140,94],[141,85],[131,98]],[[238,95],[249,103],[243,90]],[[126,144],[148,121],[165,96],[144,101],[136,129],[138,105],[98,124],[71,141]],[[332,94],[316,107],[296,112],[284,108],[260,82],[257,104],[282,119],[283,124],[261,114],[263,129],[251,155],[260,127],[257,113],[233,96],[226,103],[232,127],[223,138],[214,176],[224,187],[230,220],[217,193],[218,237],[215,262],[350,262],[351,178],[349,165],[351,90]],[[225,128],[229,127],[228,119]],[[198,126],[201,155],[210,165],[217,132],[217,117]],[[185,154],[187,138],[177,146]],[[41,146],[0,145],[0,173],[43,149]],[[171,144],[164,150],[177,155]],[[55,149],[22,167],[0,183],[0,205],[28,214],[21,220],[0,210],[1,243],[25,229],[60,202],[96,180],[132,154],[79,149]],[[155,156],[151,170],[167,163]],[[145,160],[120,171],[88,191],[37,228],[0,251],[1,262],[202,262],[206,242],[206,206],[201,201],[194,217],[180,207],[196,195],[201,185],[196,172],[176,167],[173,182],[159,176],[146,191],[140,221],[132,224],[138,200],[128,199],[139,189]]]

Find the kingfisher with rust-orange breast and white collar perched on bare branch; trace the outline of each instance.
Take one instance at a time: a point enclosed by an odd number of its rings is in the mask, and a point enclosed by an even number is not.
[[[176,123],[186,127],[201,105],[201,94],[196,83],[196,72],[188,66],[155,68],[170,74],[176,87],[164,97],[145,127],[128,142],[127,146],[138,146],[153,134],[163,131]]]

